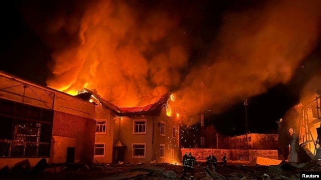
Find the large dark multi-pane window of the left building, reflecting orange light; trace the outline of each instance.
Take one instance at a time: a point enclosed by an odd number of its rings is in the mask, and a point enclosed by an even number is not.
[[[0,99],[0,121],[0,157],[49,157],[52,110]]]

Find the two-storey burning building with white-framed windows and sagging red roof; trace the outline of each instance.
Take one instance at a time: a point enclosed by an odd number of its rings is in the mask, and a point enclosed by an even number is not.
[[[123,108],[85,91],[97,103],[95,163],[180,161],[179,121],[172,113],[171,93],[147,106]]]

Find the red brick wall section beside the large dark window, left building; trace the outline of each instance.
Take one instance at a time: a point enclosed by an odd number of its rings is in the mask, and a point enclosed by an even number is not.
[[[96,120],[54,111],[52,136],[77,138],[76,156],[86,164],[93,162],[95,128]]]

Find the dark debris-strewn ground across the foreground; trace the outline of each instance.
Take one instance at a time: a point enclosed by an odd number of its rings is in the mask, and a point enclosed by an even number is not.
[[[206,171],[204,162],[195,167],[195,180],[298,180],[299,172],[311,171],[313,163],[301,165],[249,166],[229,163],[218,165],[217,171]],[[180,165],[161,164],[59,164],[38,171],[0,171],[0,180],[179,180],[183,174]]]

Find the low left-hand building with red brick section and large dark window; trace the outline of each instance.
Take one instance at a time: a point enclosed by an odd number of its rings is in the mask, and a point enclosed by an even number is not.
[[[93,161],[95,105],[0,72],[0,167]]]

